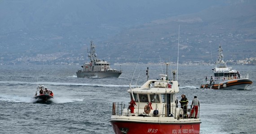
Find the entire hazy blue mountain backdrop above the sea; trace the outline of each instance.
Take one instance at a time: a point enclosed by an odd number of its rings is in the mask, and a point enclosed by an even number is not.
[[[256,57],[254,0],[2,0],[0,62],[83,63],[91,40],[100,59],[144,63]],[[211,52],[212,51],[212,52]],[[213,58],[215,60],[215,58]]]

